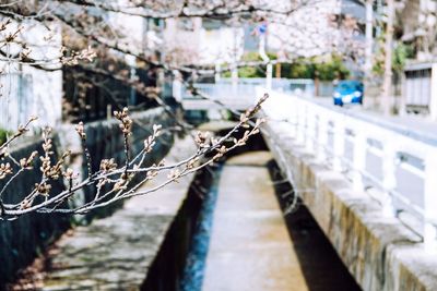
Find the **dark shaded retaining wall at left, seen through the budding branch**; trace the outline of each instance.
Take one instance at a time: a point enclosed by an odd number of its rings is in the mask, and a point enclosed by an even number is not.
[[[153,124],[163,124],[164,128],[169,126],[174,122],[162,108],[155,108],[143,112],[133,113],[133,135],[132,135],[132,155],[138,153],[143,146],[143,141],[152,131]],[[143,124],[139,126],[137,122]],[[99,161],[103,158],[115,157],[120,161],[123,157],[123,138],[118,128],[118,121],[104,120],[87,123],[85,125],[87,134],[87,146],[93,157],[93,170],[98,169]],[[145,161],[152,163],[155,159],[161,159],[168,153],[173,143],[169,134],[163,135],[156,144],[154,155]],[[13,147],[12,155],[20,159],[28,157],[33,150],[39,153],[42,149],[40,138],[27,142],[17,141],[16,147]],[[74,125],[61,126],[54,131],[54,150],[58,154],[63,153],[67,148],[72,149],[71,166],[74,170],[86,175],[86,163],[83,158],[83,148],[74,130]],[[15,182],[3,193],[4,203],[17,203],[28,194],[35,183],[40,180],[40,161],[35,160],[33,170],[28,170],[20,174]],[[4,179],[0,182],[0,187],[7,182]],[[61,180],[52,183],[52,191],[62,191],[64,185]],[[95,187],[87,187],[78,193],[74,202],[81,204],[94,197]],[[115,207],[106,207],[99,211],[93,211],[86,218],[90,220],[93,216],[105,216],[114,211]],[[29,214],[14,221],[0,222],[0,290],[3,290],[4,283],[14,279],[20,268],[26,267],[32,260],[40,255],[48,244],[52,243],[59,235],[70,227],[73,221],[72,216],[48,215],[48,214]],[[82,216],[82,220],[83,216]],[[85,221],[84,221],[85,222]]]

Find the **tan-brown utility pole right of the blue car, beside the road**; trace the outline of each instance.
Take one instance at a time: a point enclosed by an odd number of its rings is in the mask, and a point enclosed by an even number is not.
[[[382,84],[382,98],[381,107],[386,116],[391,111],[391,62],[392,62],[392,48],[393,48],[393,21],[394,21],[394,0],[387,0],[387,27],[386,27],[386,60]]]

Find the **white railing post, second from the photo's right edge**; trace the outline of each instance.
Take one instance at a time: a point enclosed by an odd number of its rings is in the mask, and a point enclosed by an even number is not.
[[[392,217],[394,215],[393,203],[391,198],[391,191],[397,187],[395,178],[395,161],[397,161],[397,150],[393,143],[390,142],[390,136],[388,136],[383,143],[383,156],[382,156],[382,186],[385,190],[386,197],[382,204],[383,215],[387,217]]]

